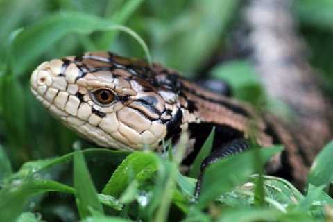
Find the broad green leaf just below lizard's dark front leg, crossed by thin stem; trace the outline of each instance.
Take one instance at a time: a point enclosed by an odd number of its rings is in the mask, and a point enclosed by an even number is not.
[[[261,148],[259,152],[262,157],[262,164],[280,151],[282,151],[281,146]],[[223,192],[246,182],[248,176],[255,173],[257,168],[255,152],[257,151],[246,151],[239,155],[219,160],[207,167],[198,199],[199,206],[205,207],[210,201],[216,200]]]

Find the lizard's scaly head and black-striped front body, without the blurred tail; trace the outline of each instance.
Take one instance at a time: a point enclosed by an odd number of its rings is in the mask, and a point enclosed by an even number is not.
[[[212,92],[162,65],[110,52],[87,52],[43,62],[30,83],[53,116],[99,146],[162,152],[164,140],[176,144],[180,133],[188,132],[187,162],[214,127],[214,148],[203,160],[201,173],[212,162],[246,150],[254,137],[259,146],[286,146],[268,169],[276,172],[287,166],[291,178],[305,181],[298,147],[278,119],[233,99],[228,90]],[[200,181],[196,196],[199,193]]]

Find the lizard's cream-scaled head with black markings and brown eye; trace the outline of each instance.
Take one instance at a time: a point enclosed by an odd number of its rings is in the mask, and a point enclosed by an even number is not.
[[[85,53],[44,62],[31,91],[47,110],[86,139],[109,148],[157,148],[180,105],[172,90],[156,87],[141,60]],[[182,119],[180,117],[180,119]]]

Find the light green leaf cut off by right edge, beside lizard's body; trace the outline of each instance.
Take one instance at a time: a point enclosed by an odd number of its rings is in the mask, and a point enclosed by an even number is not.
[[[329,185],[333,181],[333,142],[316,156],[309,171],[308,182],[315,186]]]

